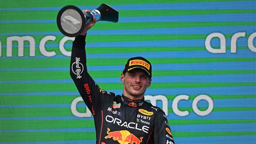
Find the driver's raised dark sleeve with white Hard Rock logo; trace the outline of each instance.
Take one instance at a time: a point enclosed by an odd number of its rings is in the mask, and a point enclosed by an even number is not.
[[[73,42],[70,76],[93,116],[99,114],[108,100],[113,98],[114,94],[100,89],[87,72],[85,36],[83,35],[76,37]]]

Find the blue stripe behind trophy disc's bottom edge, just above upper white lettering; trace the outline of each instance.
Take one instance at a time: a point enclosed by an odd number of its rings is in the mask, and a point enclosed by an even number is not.
[[[198,28],[200,30],[198,30]],[[121,29],[121,30],[90,30],[89,35],[189,35],[209,34],[219,32],[234,34],[239,31],[251,34],[256,31],[255,25],[248,26],[208,26],[208,27],[184,27],[184,28],[148,28],[148,29]],[[59,31],[48,32],[22,32],[22,33],[0,33],[0,35],[63,35]]]

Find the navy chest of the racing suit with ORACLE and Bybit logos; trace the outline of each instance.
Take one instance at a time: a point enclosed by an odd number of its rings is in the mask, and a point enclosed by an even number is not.
[[[147,140],[154,129],[154,113],[147,107],[128,107],[119,103],[110,104],[103,111],[105,138],[121,139],[124,142]]]

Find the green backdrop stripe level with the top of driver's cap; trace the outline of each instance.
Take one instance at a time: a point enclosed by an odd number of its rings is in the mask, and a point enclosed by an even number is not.
[[[241,58],[148,58],[152,65],[171,64],[171,63],[219,63],[219,62],[242,62],[256,61],[255,57]],[[115,66],[124,65],[125,58],[106,58],[106,59],[87,59],[87,66]],[[44,68],[44,67],[69,67],[70,57],[67,59],[1,59],[1,68]],[[69,70],[69,68],[67,69]],[[153,73],[154,74],[154,73]]]

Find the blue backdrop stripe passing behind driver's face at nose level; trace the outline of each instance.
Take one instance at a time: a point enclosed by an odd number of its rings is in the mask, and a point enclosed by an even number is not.
[[[256,74],[219,74],[191,76],[153,76],[154,83],[247,83],[255,82]],[[120,78],[94,78],[96,83],[120,83]],[[73,83],[72,79],[0,81],[0,83]]]

